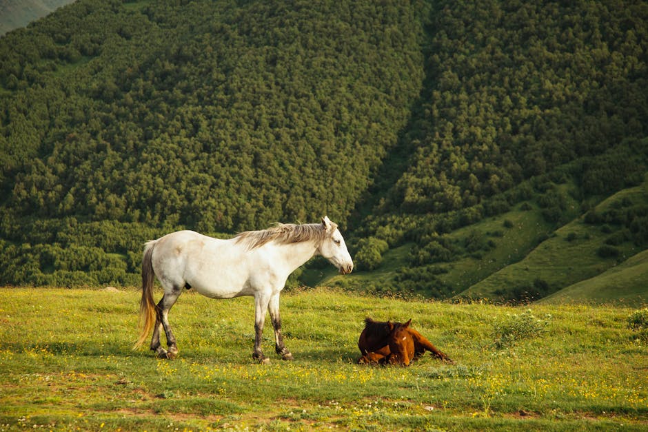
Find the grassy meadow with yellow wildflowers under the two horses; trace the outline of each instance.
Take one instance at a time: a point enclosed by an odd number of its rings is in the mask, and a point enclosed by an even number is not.
[[[296,290],[282,296],[295,360],[274,356],[267,320],[261,365],[249,297],[183,294],[170,313],[180,355],[158,360],[131,349],[136,289],[0,293],[0,431],[648,428],[646,309]],[[412,318],[455,363],[355,364],[366,316]]]

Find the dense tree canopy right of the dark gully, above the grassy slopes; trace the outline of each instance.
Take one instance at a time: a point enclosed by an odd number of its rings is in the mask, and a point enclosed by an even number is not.
[[[644,2],[433,3],[430,93],[386,212],[469,207],[648,135]]]

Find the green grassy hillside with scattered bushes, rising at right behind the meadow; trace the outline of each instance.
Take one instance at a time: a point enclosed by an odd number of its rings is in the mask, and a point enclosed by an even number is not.
[[[596,278],[602,274],[614,274],[612,269],[633,257],[643,246],[627,227],[611,227],[613,214],[626,216],[631,212],[648,210],[648,182],[638,187],[625,189],[591,209],[585,216],[556,229],[550,238],[543,241],[522,260],[509,265],[469,287],[465,296],[490,297],[518,296],[539,298],[565,288],[565,293],[580,285],[574,293],[589,291],[594,298],[614,300],[631,294],[632,301],[648,294],[647,285],[638,276],[648,276],[648,268],[635,267],[629,261],[624,268],[634,268],[634,282],[623,291],[604,285],[608,277]],[[605,215],[603,217],[594,215]],[[634,262],[636,262],[636,258]],[[608,270],[610,269],[610,270]],[[606,271],[608,270],[608,271]],[[598,282],[594,283],[594,278]],[[586,281],[589,280],[589,281]],[[580,284],[578,282],[581,282]],[[620,282],[620,280],[618,280]],[[628,281],[629,282],[629,281]],[[558,298],[563,297],[558,291]],[[569,297],[569,295],[567,295]]]

